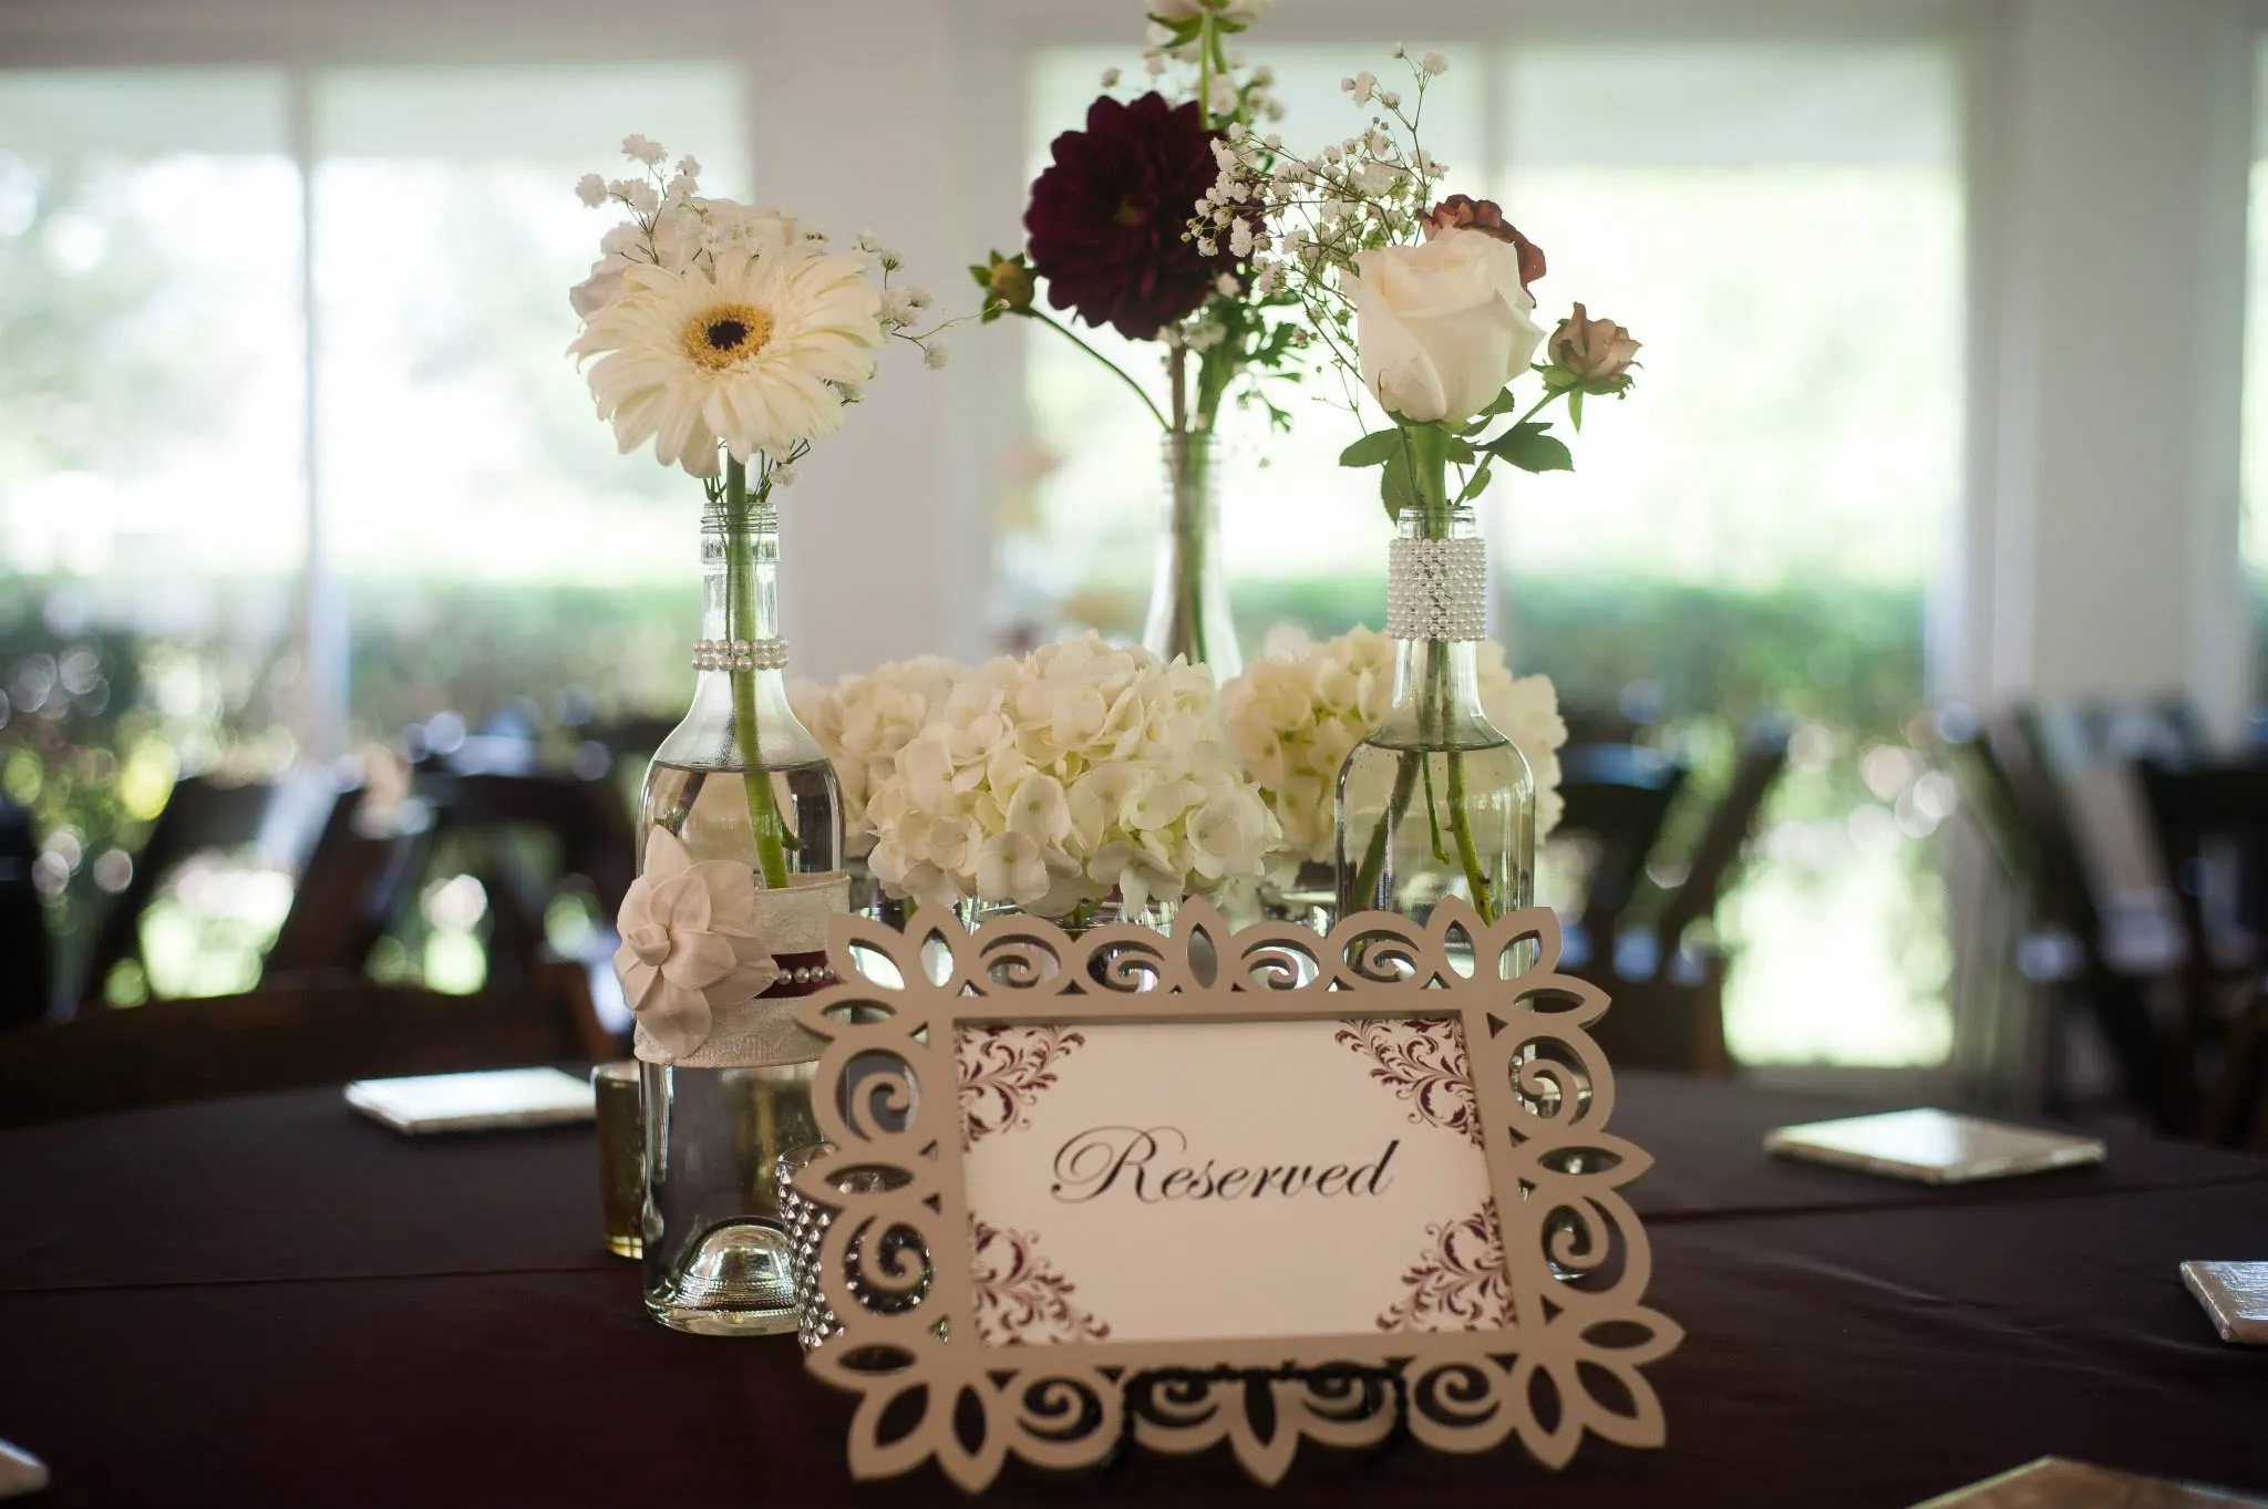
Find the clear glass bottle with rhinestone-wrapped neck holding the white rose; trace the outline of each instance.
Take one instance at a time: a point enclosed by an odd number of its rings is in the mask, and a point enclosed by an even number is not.
[[[1492,922],[1533,902],[1535,777],[1481,711],[1486,598],[1472,508],[1404,508],[1386,589],[1393,707],[1338,775],[1340,918],[1424,922],[1454,895]]]

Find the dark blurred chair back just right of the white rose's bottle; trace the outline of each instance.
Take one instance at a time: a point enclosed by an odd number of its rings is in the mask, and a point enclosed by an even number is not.
[[[1569,963],[1601,963],[1615,947],[1622,913],[1637,895],[1669,807],[1685,784],[1685,766],[1635,743],[1572,743],[1560,750],[1565,813],[1549,847],[1581,850],[1583,900],[1563,918]]]

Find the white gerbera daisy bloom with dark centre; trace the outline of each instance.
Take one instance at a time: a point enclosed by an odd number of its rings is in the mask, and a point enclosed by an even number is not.
[[[567,349],[599,358],[590,392],[624,453],[653,440],[665,467],[717,476],[719,440],[746,464],[839,430],[882,340],[864,258],[717,247],[683,272],[631,267]]]

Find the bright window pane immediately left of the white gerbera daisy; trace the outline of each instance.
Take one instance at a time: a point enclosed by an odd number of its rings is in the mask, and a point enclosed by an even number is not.
[[[683,478],[617,455],[565,356],[565,290],[610,224],[572,188],[619,163],[624,120],[699,145],[719,190],[746,179],[721,66],[320,79],[318,487],[363,736],[556,687],[612,711],[683,698]]]

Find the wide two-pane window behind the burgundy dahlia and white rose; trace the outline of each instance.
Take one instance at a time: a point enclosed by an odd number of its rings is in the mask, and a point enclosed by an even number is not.
[[[1338,77],[1383,50],[1270,48],[1286,136],[1352,129]],[[1449,52],[1454,88],[1429,97],[1427,134],[1452,179],[1492,186],[1545,245],[1545,315],[1583,299],[1644,342],[1637,394],[1585,415],[1574,476],[1488,494],[1499,632],[1572,709],[1676,743],[1703,795],[1751,714],[1799,718],[1765,861],[1721,913],[1740,952],[1733,1047],[1941,1060],[1948,956],[1926,838],[1953,788],[1907,727],[1923,596],[1960,501],[1953,48]],[[1039,54],[1034,172],[1111,61]],[[1027,392],[1032,485],[1002,576],[1030,616],[1139,632],[1157,508],[1148,421],[1048,331],[1030,333]],[[1222,483],[1247,653],[1277,621],[1327,634],[1383,619],[1386,519],[1370,478],[1334,464],[1354,421],[1306,403],[1297,424],[1288,442],[1245,426],[1266,467]],[[1048,603],[1041,582],[1068,591]],[[1701,818],[1681,813],[1681,829]],[[1658,879],[1674,884],[1674,866]]]

